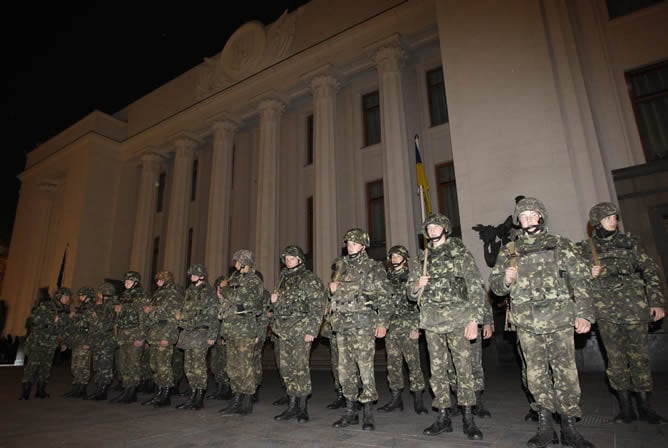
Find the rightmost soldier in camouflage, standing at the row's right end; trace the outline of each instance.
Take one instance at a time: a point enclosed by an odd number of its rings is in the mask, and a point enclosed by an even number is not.
[[[607,354],[606,375],[621,408],[614,421],[636,419],[633,393],[640,420],[664,424],[666,420],[649,404],[652,374],[647,324],[663,319],[666,306],[659,270],[637,237],[619,231],[618,219],[615,204],[596,204],[589,211],[592,237],[580,243],[594,277],[591,293]]]

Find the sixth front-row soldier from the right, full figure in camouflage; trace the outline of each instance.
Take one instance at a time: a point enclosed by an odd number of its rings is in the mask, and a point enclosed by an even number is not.
[[[221,336],[227,346],[227,374],[234,399],[219,413],[248,415],[253,412],[253,394],[257,386],[255,345],[260,340],[257,317],[264,310],[264,287],[255,273],[255,259],[251,251],[236,251],[232,261],[235,272],[221,290],[223,304],[219,316],[222,320]]]

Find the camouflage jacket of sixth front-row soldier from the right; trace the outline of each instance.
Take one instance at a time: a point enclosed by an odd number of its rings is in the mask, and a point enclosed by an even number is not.
[[[222,320],[221,337],[259,337],[261,327],[264,327],[266,334],[268,322],[264,319],[267,301],[262,280],[255,269],[232,275],[227,286],[221,289],[221,295],[223,298],[218,314]]]

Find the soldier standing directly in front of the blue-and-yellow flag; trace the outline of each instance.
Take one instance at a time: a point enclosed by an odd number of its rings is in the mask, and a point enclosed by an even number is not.
[[[425,330],[431,362],[432,406],[438,409],[436,421],[423,433],[434,436],[452,432],[447,371],[452,356],[464,434],[480,440],[482,432],[473,418],[476,397],[469,341],[478,337],[487,293],[473,255],[462,240],[450,237],[450,231],[446,216],[436,213],[427,217],[423,234],[429,243],[413,259],[406,285],[409,297],[420,307],[420,328]]]

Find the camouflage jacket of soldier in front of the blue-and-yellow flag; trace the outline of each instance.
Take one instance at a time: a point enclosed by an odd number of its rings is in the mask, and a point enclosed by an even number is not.
[[[417,300],[415,285],[423,273],[424,251],[411,262],[406,289]],[[487,293],[473,255],[459,238],[427,248],[429,282],[420,302],[420,328],[437,333],[463,330],[471,321],[482,323]]]

